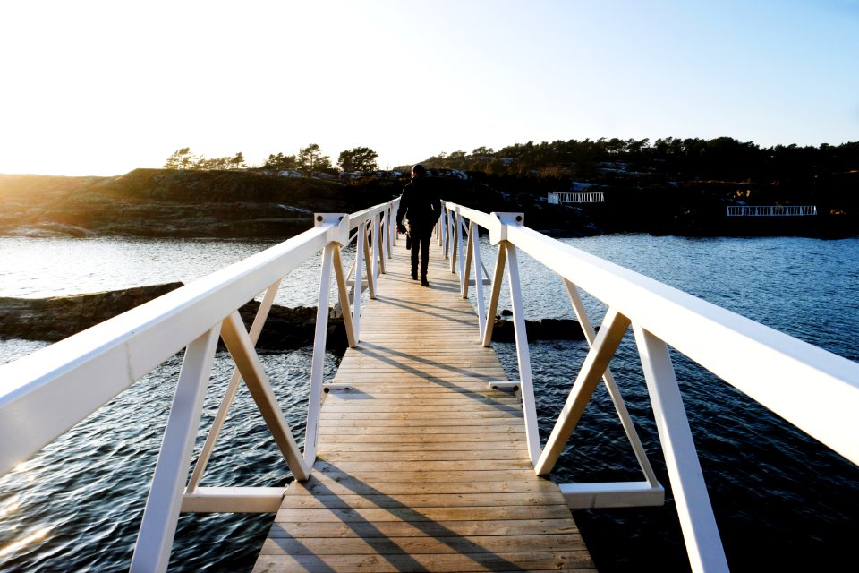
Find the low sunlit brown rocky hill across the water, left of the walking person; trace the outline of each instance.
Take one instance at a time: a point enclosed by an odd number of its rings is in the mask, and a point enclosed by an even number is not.
[[[314,212],[353,212],[401,188],[259,171],[136,169],[116,177],[0,175],[0,235],[288,238]]]

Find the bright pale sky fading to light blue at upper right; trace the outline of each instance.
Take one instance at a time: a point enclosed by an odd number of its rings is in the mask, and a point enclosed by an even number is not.
[[[859,0],[0,0],[0,173],[859,141]]]

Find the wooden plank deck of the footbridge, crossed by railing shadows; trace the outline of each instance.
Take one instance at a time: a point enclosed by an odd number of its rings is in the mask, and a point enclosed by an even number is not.
[[[534,475],[522,410],[440,248],[429,288],[400,241],[253,569],[595,570],[557,485]]]

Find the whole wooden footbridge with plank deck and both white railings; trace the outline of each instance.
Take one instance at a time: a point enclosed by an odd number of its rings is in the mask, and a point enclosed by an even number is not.
[[[430,286],[422,287],[410,277],[409,253],[396,245],[396,208],[390,201],[316,214],[301,235],[0,366],[0,475],[183,351],[132,571],[166,571],[182,512],[276,512],[257,571],[593,569],[570,509],[658,505],[665,496],[608,369],[630,329],[694,571],[726,571],[727,558],[669,345],[859,463],[859,364],[541,235],[524,226],[522,213],[446,203]],[[481,230],[489,232],[485,252],[497,257],[491,278],[476,240]],[[355,255],[352,278],[344,249]],[[538,432],[517,252],[561,279],[590,345],[546,440]],[[254,344],[282,281],[314,259],[321,263],[319,303],[301,449]],[[326,382],[332,276],[350,348]],[[489,347],[502,278],[516,381],[506,381]],[[359,287],[350,295],[349,286]],[[580,289],[603,305],[599,334]],[[260,295],[247,329],[238,309]],[[219,339],[236,368],[195,451]],[[295,477],[286,490],[200,486],[242,381]],[[642,480],[556,485],[540,477],[551,473],[600,381]]]

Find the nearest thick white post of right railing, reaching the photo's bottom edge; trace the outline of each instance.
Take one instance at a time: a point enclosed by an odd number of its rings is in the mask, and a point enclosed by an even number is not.
[[[710,506],[710,496],[686,419],[674,366],[668,355],[668,346],[641,327],[634,326],[633,330],[651,396],[659,441],[665,453],[668,478],[676,500],[689,563],[693,571],[727,571],[719,528]]]

